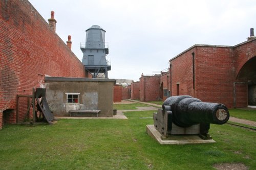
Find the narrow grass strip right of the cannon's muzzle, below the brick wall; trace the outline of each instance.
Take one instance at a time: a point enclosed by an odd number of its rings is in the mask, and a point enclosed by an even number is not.
[[[230,116],[256,121],[256,110],[229,109]]]

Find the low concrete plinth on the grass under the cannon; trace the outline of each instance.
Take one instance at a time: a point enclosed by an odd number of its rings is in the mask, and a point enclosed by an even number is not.
[[[198,135],[172,135],[168,140],[162,140],[161,134],[154,125],[147,125],[146,132],[148,135],[155,138],[160,144],[188,144],[188,143],[215,143],[213,139],[203,140]]]

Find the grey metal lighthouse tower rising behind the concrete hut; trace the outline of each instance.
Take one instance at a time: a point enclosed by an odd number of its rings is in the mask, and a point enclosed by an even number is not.
[[[80,46],[82,63],[93,78],[108,78],[108,71],[111,70],[111,62],[106,60],[109,45],[105,43],[105,32],[99,26],[92,26],[86,30],[86,43]]]

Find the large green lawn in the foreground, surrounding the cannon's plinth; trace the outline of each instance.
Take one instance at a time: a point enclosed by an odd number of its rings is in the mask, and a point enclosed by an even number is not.
[[[145,133],[154,111],[129,119],[61,119],[52,126],[4,126],[0,169],[214,169],[241,162],[256,169],[255,131],[211,125],[216,143],[160,145]]]

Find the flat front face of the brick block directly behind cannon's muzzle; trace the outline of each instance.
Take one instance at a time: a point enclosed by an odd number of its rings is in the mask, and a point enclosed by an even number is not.
[[[233,106],[234,57],[230,47],[197,47],[195,96],[204,102]]]

